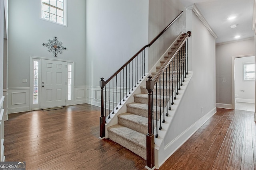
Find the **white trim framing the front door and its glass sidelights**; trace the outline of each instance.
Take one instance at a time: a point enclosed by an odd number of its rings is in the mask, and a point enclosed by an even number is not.
[[[30,56],[30,99],[29,99],[29,107],[30,110],[37,110],[41,109],[41,89],[38,88],[38,104],[33,104],[33,93],[34,93],[34,82],[33,82],[33,61],[38,61],[39,62],[39,67],[38,68],[38,85],[41,85],[41,60],[52,60],[52,61],[63,61],[66,62],[66,64],[72,64],[72,100],[66,102],[66,105],[73,105],[74,104],[74,61],[69,61],[69,60],[61,60],[61,59],[51,59],[51,58],[44,58],[44,57],[36,57],[36,56]],[[67,71],[68,69],[66,69]],[[66,80],[68,80],[68,74],[66,74]],[[66,88],[68,90],[68,88]],[[66,91],[66,94],[68,92]],[[66,95],[67,98],[67,95]]]

